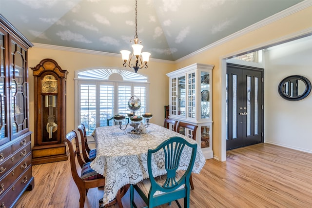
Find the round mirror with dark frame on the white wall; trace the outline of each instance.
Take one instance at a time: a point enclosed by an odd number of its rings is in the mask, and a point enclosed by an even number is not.
[[[310,81],[300,75],[293,75],[283,79],[278,85],[278,93],[289,101],[299,101],[309,95]]]

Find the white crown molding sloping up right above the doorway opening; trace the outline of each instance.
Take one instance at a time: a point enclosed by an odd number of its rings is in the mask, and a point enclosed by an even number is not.
[[[293,13],[296,13],[298,11],[306,9],[309,6],[312,6],[312,0],[304,0],[304,1],[300,2],[300,3],[297,3],[296,5],[294,5],[292,7],[289,7],[289,8],[287,8],[287,9],[285,9],[285,10],[279,12],[279,13],[276,13],[276,14],[272,15],[271,17],[268,17],[268,18],[266,18],[266,19],[264,19],[262,21],[258,21],[256,23],[252,24],[251,26],[248,26],[248,27],[246,27],[246,28],[244,28],[244,29],[242,29],[240,31],[237,31],[237,32],[235,32],[235,33],[233,33],[233,34],[231,34],[231,35],[229,35],[229,36],[227,36],[227,37],[225,37],[223,39],[220,39],[219,41],[216,41],[216,42],[214,42],[214,43],[212,43],[210,45],[207,45],[207,46],[205,46],[205,47],[203,47],[203,48],[201,48],[201,49],[199,49],[199,50],[197,50],[197,51],[195,51],[193,53],[190,53],[189,55],[186,55],[186,56],[176,60],[175,63],[182,62],[182,61],[184,61],[186,59],[192,58],[192,57],[194,57],[195,55],[197,55],[199,53],[207,51],[207,50],[209,50],[209,49],[211,49],[213,47],[216,47],[218,45],[221,45],[221,44],[223,44],[225,42],[229,42],[229,41],[231,41],[231,40],[233,40],[235,38],[238,38],[238,37],[240,37],[242,35],[250,33],[250,32],[252,32],[252,31],[254,31],[256,29],[259,29],[259,28],[261,28],[261,27],[263,27],[263,26],[265,26],[267,24],[270,24],[270,23],[272,23],[274,21],[278,21],[278,20],[280,20],[282,18],[285,18],[285,17],[287,17],[289,15],[292,15]]]

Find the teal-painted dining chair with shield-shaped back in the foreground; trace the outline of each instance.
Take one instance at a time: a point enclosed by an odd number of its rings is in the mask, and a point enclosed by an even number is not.
[[[189,146],[192,148],[190,163],[186,171],[178,171],[180,157],[183,148]],[[176,201],[181,208],[178,199],[184,198],[184,207],[189,208],[190,204],[190,176],[195,163],[196,144],[190,144],[181,137],[171,137],[161,143],[155,149],[149,149],[147,153],[147,168],[149,178],[130,185],[130,206],[136,206],[134,202],[134,189],[141,196],[147,207],[156,207],[165,203]],[[164,156],[164,169],[166,175],[154,176],[152,169],[159,161],[155,161],[155,154]]]

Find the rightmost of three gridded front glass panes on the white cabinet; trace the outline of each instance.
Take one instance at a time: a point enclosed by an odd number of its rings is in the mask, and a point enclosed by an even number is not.
[[[195,72],[188,74],[188,118],[195,118]]]

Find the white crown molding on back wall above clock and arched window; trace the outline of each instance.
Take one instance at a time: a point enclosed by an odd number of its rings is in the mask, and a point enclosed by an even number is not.
[[[91,55],[120,57],[120,60],[121,60],[121,55],[120,54],[116,54],[116,53],[108,53],[108,52],[102,52],[102,51],[93,51],[93,50],[65,47],[65,46],[59,46],[59,45],[48,45],[48,44],[34,43],[34,42],[33,42],[33,44],[34,44],[34,47],[37,47],[37,48],[45,48],[45,49],[61,50],[61,51],[70,51],[70,52],[85,53],[85,54],[91,54]],[[152,62],[162,62],[162,63],[172,63],[172,64],[175,63],[174,61],[153,59],[153,58],[151,58],[150,61],[152,61]]]

